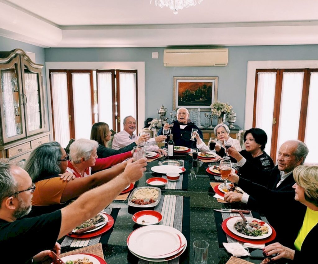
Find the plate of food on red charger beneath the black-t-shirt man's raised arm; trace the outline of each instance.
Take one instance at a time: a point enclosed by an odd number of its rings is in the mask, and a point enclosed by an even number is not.
[[[90,238],[90,237],[98,236],[100,234],[107,232],[109,229],[111,229],[114,226],[114,222],[115,222],[114,218],[107,213],[100,212],[98,215],[100,215],[100,214],[104,217],[104,219],[105,219],[104,221],[108,220],[109,222],[107,222],[105,225],[102,225],[101,227],[97,227],[96,229],[84,232],[83,234],[73,233],[74,230],[76,231],[78,229],[81,229],[79,227],[84,226],[84,223],[86,223],[85,224],[86,227],[90,227],[92,225],[95,225],[95,224],[102,222],[100,218],[93,217],[93,218],[85,221],[81,225],[77,226],[76,228],[74,228],[72,234],[67,234],[67,235],[70,237],[73,237],[73,238]],[[96,220],[96,219],[98,219],[98,220]]]

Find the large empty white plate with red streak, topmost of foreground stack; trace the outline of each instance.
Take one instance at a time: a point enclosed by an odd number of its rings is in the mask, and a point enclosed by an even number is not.
[[[185,243],[180,231],[163,225],[140,227],[127,238],[127,246],[132,252],[151,259],[173,256],[182,251]]]

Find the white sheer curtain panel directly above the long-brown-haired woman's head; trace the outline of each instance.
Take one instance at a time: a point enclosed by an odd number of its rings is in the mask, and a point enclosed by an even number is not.
[[[112,99],[112,73],[98,72],[98,121],[105,122],[110,128],[113,127],[113,99]]]

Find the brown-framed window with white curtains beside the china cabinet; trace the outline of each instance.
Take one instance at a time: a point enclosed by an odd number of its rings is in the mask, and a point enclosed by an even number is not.
[[[61,146],[90,138],[92,124],[117,132],[121,118],[137,117],[136,70],[50,70],[53,137]],[[138,127],[137,127],[138,130]]]

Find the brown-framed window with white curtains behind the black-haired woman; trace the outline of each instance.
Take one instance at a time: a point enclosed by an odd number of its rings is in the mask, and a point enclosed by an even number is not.
[[[313,141],[314,114],[318,108],[318,71],[313,69],[256,70],[253,127],[268,136],[265,151],[276,160],[282,143],[304,141],[309,148],[308,163],[317,162]],[[309,93],[309,96],[308,96]]]

